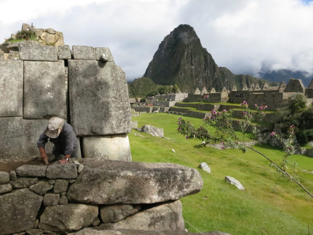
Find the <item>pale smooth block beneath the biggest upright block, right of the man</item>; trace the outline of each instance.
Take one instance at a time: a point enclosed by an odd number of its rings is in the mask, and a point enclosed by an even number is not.
[[[131,162],[131,148],[127,134],[82,138],[85,158]]]

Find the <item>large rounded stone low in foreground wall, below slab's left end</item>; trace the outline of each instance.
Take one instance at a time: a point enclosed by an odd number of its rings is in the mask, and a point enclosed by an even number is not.
[[[67,204],[47,206],[40,217],[39,228],[50,231],[73,231],[87,227],[98,217],[98,206]]]

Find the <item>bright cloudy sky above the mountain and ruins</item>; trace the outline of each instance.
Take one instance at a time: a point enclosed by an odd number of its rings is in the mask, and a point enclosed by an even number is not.
[[[235,74],[313,74],[313,0],[0,0],[0,9],[0,43],[23,23],[53,28],[70,46],[109,47],[127,81],[145,73],[179,24],[191,25],[218,66]]]

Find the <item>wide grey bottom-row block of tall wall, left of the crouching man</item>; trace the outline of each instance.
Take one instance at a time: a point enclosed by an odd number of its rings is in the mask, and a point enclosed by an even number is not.
[[[0,118],[0,161],[40,157],[36,143],[48,123],[49,120],[25,120],[22,117]],[[46,144],[47,154],[51,154],[52,147],[52,143]]]

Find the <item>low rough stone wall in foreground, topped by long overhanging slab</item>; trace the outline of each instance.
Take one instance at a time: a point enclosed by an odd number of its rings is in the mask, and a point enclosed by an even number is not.
[[[179,199],[202,185],[196,169],[168,163],[71,159],[23,165],[0,171],[0,235],[85,227],[184,231]]]

